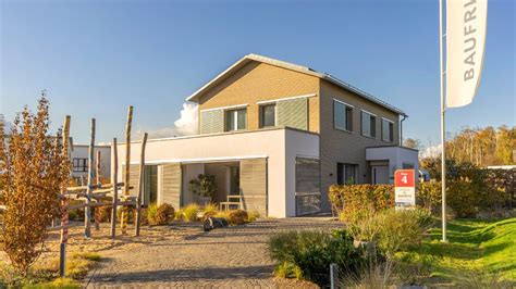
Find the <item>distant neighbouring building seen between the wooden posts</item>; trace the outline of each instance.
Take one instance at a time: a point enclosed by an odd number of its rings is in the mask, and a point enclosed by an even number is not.
[[[100,151],[100,176],[109,179],[111,174],[111,146],[95,146],[94,151],[95,163],[97,162],[97,151]],[[77,184],[86,184],[88,180],[88,146],[74,143],[70,159],[73,178]]]

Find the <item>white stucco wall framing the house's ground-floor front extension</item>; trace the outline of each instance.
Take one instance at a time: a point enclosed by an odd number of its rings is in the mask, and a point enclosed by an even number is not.
[[[132,142],[131,163],[139,163],[140,142]],[[125,144],[118,146],[119,179]],[[288,128],[238,131],[147,141],[146,163],[206,163],[267,158],[269,216],[295,215],[295,156],[319,158],[319,136]]]

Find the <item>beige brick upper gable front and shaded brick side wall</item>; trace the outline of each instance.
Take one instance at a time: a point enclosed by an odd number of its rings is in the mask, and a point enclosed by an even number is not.
[[[199,112],[217,108],[247,104],[247,129],[259,129],[257,102],[315,95],[308,98],[308,130],[320,134],[322,209],[330,210],[328,188],[336,183],[337,163],[358,165],[357,183],[370,183],[366,148],[397,146],[400,115],[383,105],[344,89],[327,79],[282,67],[250,61],[199,98]],[[353,131],[333,127],[333,99],[353,105]],[[361,135],[361,110],[377,115],[376,137]],[[199,113],[200,117],[200,113]],[[382,141],[382,117],[393,122],[393,142]],[[202,118],[199,118],[201,124]]]

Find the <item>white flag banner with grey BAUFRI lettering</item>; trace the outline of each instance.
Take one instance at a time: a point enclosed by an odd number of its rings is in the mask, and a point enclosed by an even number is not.
[[[471,103],[482,73],[488,0],[446,1],[446,106]]]

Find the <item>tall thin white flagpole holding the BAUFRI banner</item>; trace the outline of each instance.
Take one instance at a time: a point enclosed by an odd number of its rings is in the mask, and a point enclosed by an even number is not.
[[[444,61],[443,61],[443,0],[439,0],[439,52],[441,67],[441,193],[442,193],[442,241],[446,242],[446,136],[444,127],[444,113],[446,104],[444,101]]]

